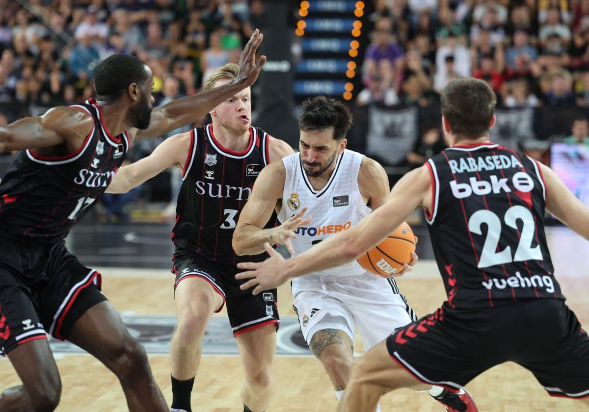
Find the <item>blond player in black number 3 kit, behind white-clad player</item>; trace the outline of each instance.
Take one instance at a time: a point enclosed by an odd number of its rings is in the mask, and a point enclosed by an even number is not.
[[[236,76],[237,65],[227,64],[209,77],[205,89],[223,87]],[[191,410],[190,393],[204,331],[213,313],[224,304],[246,372],[241,390],[244,410],[263,411],[273,396],[272,361],[279,326],[276,289],[253,296],[241,291],[234,278],[237,263],[260,261],[267,255],[238,256],[231,238],[257,175],[270,162],[292,154],[293,149],[252,127],[250,95],[246,88],[227,98],[211,110],[212,124],[174,135],[150,156],[122,167],[107,189],[127,192],[168,167],[182,170],[172,233],[178,314],[171,343],[173,411]],[[297,224],[299,217],[274,231],[290,232]],[[203,380],[206,377],[197,381]]]

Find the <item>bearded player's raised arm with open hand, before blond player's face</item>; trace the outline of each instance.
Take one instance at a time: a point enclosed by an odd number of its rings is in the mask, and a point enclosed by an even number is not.
[[[256,29],[247,42],[239,61],[237,78],[221,87],[198,93],[169,102],[151,111],[151,122],[147,129],[131,131],[135,138],[157,137],[165,135],[179,127],[196,122],[209,111],[223,103],[236,93],[256,82],[266,56],[261,56],[257,61],[256,51],[262,43],[263,35]]]

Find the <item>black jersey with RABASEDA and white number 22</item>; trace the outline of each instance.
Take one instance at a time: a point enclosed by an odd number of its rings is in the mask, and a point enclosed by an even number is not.
[[[545,185],[531,158],[492,143],[454,146],[426,165],[426,220],[448,303],[564,300],[544,233]]]

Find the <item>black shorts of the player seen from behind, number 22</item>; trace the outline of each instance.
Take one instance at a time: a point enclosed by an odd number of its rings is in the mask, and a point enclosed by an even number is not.
[[[458,389],[507,362],[527,368],[551,396],[589,397],[589,337],[564,301],[545,298],[434,314],[386,340],[392,359],[423,383]]]

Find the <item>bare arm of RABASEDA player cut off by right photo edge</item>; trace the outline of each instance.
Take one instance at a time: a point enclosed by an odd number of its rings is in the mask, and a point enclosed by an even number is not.
[[[546,185],[546,210],[589,240],[589,209],[568,190],[550,167],[539,165]]]

